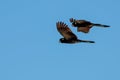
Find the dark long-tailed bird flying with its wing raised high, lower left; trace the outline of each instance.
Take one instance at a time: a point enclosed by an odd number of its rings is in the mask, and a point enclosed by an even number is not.
[[[85,43],[95,43],[94,41],[88,41],[88,40],[80,40],[77,38],[77,36],[70,30],[68,25],[66,25],[64,22],[57,22],[56,27],[58,32],[63,36],[63,38],[60,38],[61,43],[78,43],[78,42],[85,42]]]

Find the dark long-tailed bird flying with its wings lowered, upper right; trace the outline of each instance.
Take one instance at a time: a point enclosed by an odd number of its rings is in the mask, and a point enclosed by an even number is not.
[[[70,18],[69,20],[72,23],[73,27],[77,27],[78,32],[83,32],[83,33],[88,33],[93,26],[110,27],[108,25],[95,24],[95,23],[92,23],[92,22],[86,21],[86,20],[76,20],[73,18]]]

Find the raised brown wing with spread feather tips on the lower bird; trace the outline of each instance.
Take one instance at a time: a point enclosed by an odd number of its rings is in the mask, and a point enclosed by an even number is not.
[[[68,27],[68,25],[66,25],[63,22],[57,22],[56,23],[56,27],[58,32],[66,39],[66,40],[70,40],[70,39],[77,39],[77,36],[70,30],[70,28]]]

